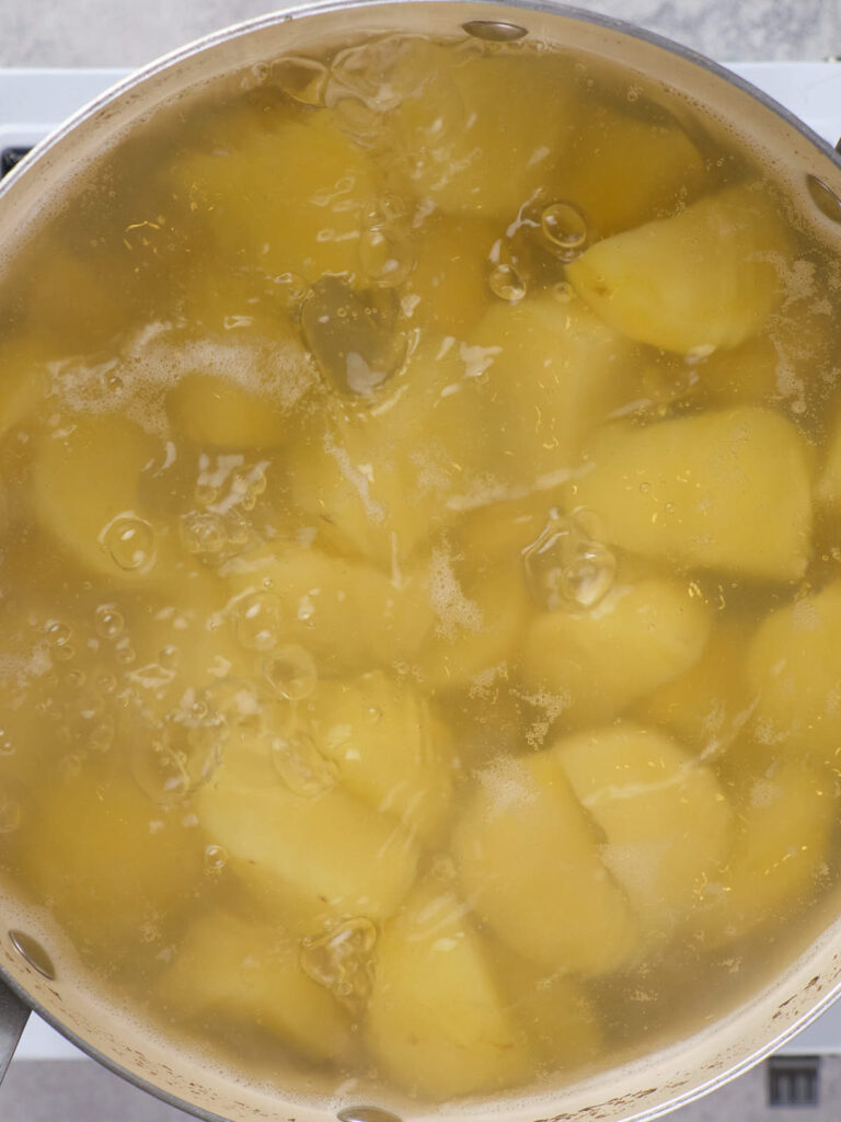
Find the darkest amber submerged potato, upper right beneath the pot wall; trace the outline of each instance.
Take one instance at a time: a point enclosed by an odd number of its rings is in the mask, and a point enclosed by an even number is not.
[[[586,215],[592,240],[675,211],[704,178],[703,156],[678,125],[595,103],[573,130],[557,194]]]

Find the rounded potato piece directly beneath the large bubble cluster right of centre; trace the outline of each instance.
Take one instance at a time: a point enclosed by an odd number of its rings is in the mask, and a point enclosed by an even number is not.
[[[523,680],[562,698],[564,719],[608,720],[697,662],[709,632],[709,614],[686,587],[658,578],[616,586],[588,611],[533,620]]]

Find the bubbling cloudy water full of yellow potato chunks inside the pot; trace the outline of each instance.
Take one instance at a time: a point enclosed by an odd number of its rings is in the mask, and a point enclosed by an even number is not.
[[[84,984],[441,1101],[793,956],[838,279],[749,155],[532,46],[281,58],[96,166],[0,291],[0,855]]]

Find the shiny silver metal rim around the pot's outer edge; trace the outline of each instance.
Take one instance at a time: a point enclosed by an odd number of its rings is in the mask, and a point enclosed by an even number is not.
[[[302,20],[314,15],[324,16],[331,12],[346,11],[348,9],[376,10],[378,8],[394,8],[398,3],[406,3],[407,7],[418,7],[423,4],[436,8],[446,8],[450,6],[450,0],[304,0],[304,2],[290,3],[287,8],[278,11],[230,25],[218,31],[213,31],[206,36],[195,39],[183,47],[178,47],[175,50],[161,55],[146,66],[135,71],[128,77],[124,77],[114,85],[110,86],[102,94],[77,110],[47,137],[40,140],[27,156],[26,160],[18,164],[0,183],[0,204],[2,203],[3,196],[8,194],[11,187],[20,182],[21,177],[37,174],[37,165],[39,160],[62,140],[68,137],[68,135],[71,135],[80,125],[95,118],[113,102],[130,94],[138,86],[144,85],[156,75],[184,64],[196,55],[200,55],[213,47],[222,46],[231,39],[259,33],[294,20]],[[699,52],[669,38],[645,28],[640,28],[625,20],[616,19],[611,16],[604,16],[599,12],[584,10],[564,3],[555,3],[554,0],[500,0],[500,2],[495,2],[495,0],[459,0],[459,4],[469,4],[472,8],[475,8],[477,19],[479,19],[479,12],[481,11],[487,13],[487,18],[489,20],[500,19],[500,12],[511,13],[514,11],[562,16],[572,20],[594,25],[609,31],[614,31],[620,36],[626,36],[631,39],[646,43],[650,46],[658,47],[671,55],[677,56],[686,63],[693,64],[694,66],[722,79],[730,85],[736,86],[742,93],[752,98],[755,101],[758,101],[761,105],[780,118],[792,129],[796,130],[806,141],[808,141],[810,145],[816,148],[823,157],[830,159],[830,162],[841,172],[841,155],[807,125],[789,112],[789,110],[787,110],[784,105],[779,104],[779,102],[775,101],[764,91],[754,86],[750,82],[747,82],[745,79],[734,74],[726,66],[722,66],[719,63],[711,61],[705,55],[702,55]],[[456,24],[456,27],[461,26],[463,26],[463,21]],[[3,937],[8,938],[8,934]],[[39,1001],[35,1000],[27,992],[25,986],[9,974],[7,968],[1,963],[0,981],[6,983],[6,985],[16,994],[21,1003],[41,1017],[52,1028],[59,1032],[72,1045],[87,1055],[91,1059],[96,1060],[96,1063],[101,1064],[108,1070],[119,1075],[121,1078],[131,1083],[139,1089],[154,1095],[169,1106],[185,1111],[193,1116],[203,1120],[203,1122],[228,1122],[228,1120],[222,1115],[206,1111],[197,1104],[181,1098],[179,1096],[168,1092],[166,1088],[158,1086],[157,1084],[145,1078],[142,1075],[123,1068],[118,1060],[100,1051],[95,1046],[80,1037],[74,1030],[65,1026],[58,1017],[53,1014]],[[815,1002],[807,1013],[798,1017],[793,1023],[774,1037],[774,1039],[755,1049],[755,1051],[752,1051],[749,1056],[739,1060],[736,1065],[728,1067],[726,1070],[711,1076],[709,1079],[705,1079],[700,1084],[690,1087],[687,1091],[671,1097],[668,1101],[643,1109],[636,1113],[625,1115],[626,1122],[653,1122],[654,1119],[662,1118],[664,1114],[693,1103],[710,1092],[723,1087],[754,1067],[760,1060],[771,1055],[791,1040],[797,1032],[811,1024],[828,1009],[829,1005],[835,1001],[837,997],[839,997],[839,995],[841,995],[841,977],[833,986],[829,987],[825,993],[822,994],[820,1001]],[[681,1048],[681,1043],[672,1046],[672,1048],[667,1049],[667,1051],[678,1048]],[[637,1063],[639,1061],[634,1061],[634,1064]],[[364,1107],[359,1110],[363,1112]],[[433,1109],[432,1111],[427,1111],[425,1113],[434,1114],[435,1111]],[[468,1104],[465,1105],[464,1115],[465,1118],[469,1118],[470,1114],[471,1107]],[[363,1115],[360,1113],[360,1119],[362,1116]],[[542,1119],[539,1122],[564,1122],[564,1120],[571,1118],[573,1118],[572,1113],[565,1114],[562,1112],[552,1116],[552,1119]],[[289,1119],[289,1122],[295,1122],[295,1120]]]

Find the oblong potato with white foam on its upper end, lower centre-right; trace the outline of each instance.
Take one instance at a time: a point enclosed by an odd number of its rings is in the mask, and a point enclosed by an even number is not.
[[[471,907],[537,966],[606,974],[636,953],[636,918],[552,752],[481,772],[453,855]]]

